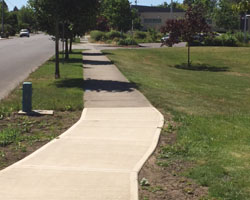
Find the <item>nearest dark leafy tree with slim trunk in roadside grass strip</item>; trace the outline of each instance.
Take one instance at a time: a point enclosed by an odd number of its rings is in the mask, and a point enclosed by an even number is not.
[[[98,2],[98,0],[29,0],[40,30],[54,36],[55,39],[55,78],[60,78],[60,37],[65,35],[67,43],[69,37],[84,33],[93,22],[90,18],[96,15]],[[62,32],[63,29],[65,34]]]

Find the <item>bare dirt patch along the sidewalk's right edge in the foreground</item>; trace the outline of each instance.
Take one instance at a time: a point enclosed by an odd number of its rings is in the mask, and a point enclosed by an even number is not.
[[[207,196],[208,188],[197,185],[193,180],[182,176],[182,173],[191,168],[192,164],[175,160],[169,164],[161,163],[162,147],[173,145],[176,141],[176,123],[171,116],[165,115],[167,123],[161,134],[158,147],[154,154],[145,163],[139,173],[140,200],[198,200]],[[142,183],[146,180],[149,185]]]

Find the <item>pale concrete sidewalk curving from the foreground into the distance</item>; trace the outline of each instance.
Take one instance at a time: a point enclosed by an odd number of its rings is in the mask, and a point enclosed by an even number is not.
[[[96,50],[84,52],[85,109],[58,139],[0,172],[3,200],[137,200],[163,116]]]

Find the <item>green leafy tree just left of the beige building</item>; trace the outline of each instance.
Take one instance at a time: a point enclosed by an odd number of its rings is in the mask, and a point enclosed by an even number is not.
[[[109,22],[111,28],[126,32],[132,26],[132,13],[128,0],[102,0],[101,15]]]

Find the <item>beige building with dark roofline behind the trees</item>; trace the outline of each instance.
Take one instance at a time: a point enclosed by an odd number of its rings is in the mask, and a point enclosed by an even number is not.
[[[147,30],[149,28],[159,30],[165,25],[165,22],[168,19],[179,19],[183,18],[185,15],[185,11],[180,9],[173,9],[173,12],[171,13],[169,8],[152,6],[132,6],[132,8],[138,10],[143,30]]]

